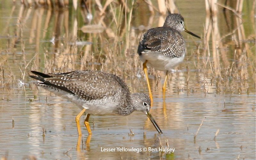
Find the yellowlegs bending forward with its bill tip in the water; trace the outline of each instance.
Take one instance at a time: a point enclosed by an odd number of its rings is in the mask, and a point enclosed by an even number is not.
[[[84,124],[92,134],[90,114],[104,115],[116,113],[127,116],[133,111],[145,113],[157,132],[162,133],[156,121],[149,113],[151,102],[145,93],[130,93],[124,81],[113,74],[100,71],[72,71],[67,73],[44,74],[31,71],[36,76],[30,76],[41,82],[35,83],[44,89],[74,102],[82,111],[76,116],[78,134],[81,135],[80,117],[87,113]]]

